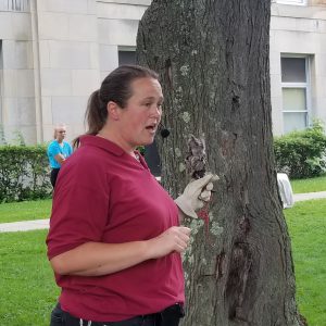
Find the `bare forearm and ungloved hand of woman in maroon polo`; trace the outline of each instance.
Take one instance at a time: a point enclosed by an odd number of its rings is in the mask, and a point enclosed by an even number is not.
[[[101,276],[135,266],[171,252],[183,252],[190,229],[173,226],[155,238],[125,243],[86,242],[51,259],[60,275]]]

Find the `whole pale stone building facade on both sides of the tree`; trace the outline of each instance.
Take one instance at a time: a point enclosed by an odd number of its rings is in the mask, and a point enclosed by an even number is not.
[[[88,96],[135,60],[151,0],[0,0],[0,126],[8,141],[84,133]],[[326,0],[276,0],[271,21],[273,130],[326,122]]]

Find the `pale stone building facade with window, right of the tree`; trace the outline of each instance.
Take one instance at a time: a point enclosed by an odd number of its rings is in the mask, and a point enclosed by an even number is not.
[[[326,1],[273,1],[269,49],[274,134],[325,123]]]

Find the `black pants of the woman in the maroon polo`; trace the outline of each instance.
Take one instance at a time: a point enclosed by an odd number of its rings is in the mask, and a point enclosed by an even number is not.
[[[64,312],[58,303],[51,313],[50,326],[178,326],[179,319],[184,316],[183,306],[174,304],[162,312],[136,316],[121,322],[89,322],[82,321]]]

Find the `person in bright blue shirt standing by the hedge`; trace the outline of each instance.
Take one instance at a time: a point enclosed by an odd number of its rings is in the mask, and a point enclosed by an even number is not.
[[[48,146],[48,158],[51,166],[51,184],[54,188],[60,167],[64,161],[73,153],[72,146],[64,141],[66,127],[64,125],[54,128],[54,140]]]

